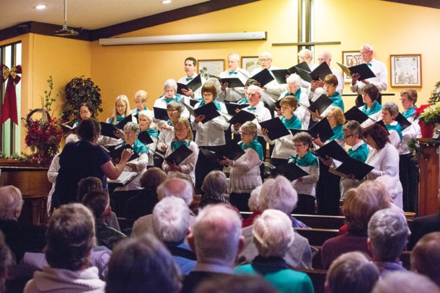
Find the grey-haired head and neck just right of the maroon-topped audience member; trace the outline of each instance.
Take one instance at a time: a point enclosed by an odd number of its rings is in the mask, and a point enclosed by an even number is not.
[[[399,257],[408,239],[406,218],[395,209],[376,211],[368,223],[367,245],[373,262],[381,270],[381,277],[390,271],[406,271]]]

